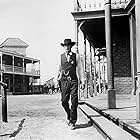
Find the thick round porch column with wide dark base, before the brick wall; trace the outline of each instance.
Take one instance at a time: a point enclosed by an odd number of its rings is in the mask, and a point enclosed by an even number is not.
[[[105,1],[105,35],[107,49],[108,108],[111,109],[116,108],[113,71],[113,46],[111,38],[111,0]]]

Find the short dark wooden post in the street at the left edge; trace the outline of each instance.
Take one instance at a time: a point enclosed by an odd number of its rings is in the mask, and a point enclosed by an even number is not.
[[[1,97],[2,97],[2,121],[8,122],[7,121],[7,95],[6,95],[7,84],[0,81],[0,85],[1,85]]]

